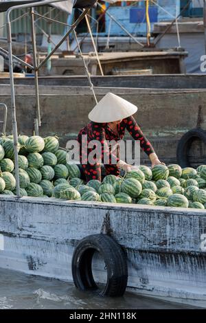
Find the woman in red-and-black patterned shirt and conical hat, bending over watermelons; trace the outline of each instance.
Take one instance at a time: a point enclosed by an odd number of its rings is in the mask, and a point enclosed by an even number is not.
[[[115,96],[113,93],[107,93],[98,104],[89,113],[91,122],[87,124],[78,134],[78,142],[80,144],[80,162],[87,181],[98,179],[101,181],[101,161],[95,160],[93,164],[87,161],[91,148],[87,147],[92,140],[98,140],[101,143],[102,160],[106,154],[108,164],[104,164],[106,175],[116,175],[120,173],[122,168],[125,172],[131,169],[131,165],[119,159],[119,150],[117,148],[116,155],[113,154],[111,147],[108,147],[106,141],[123,140],[125,130],[135,139],[140,141],[141,149],[148,155],[152,163],[152,167],[157,164],[163,164],[159,161],[152,145],[144,134],[141,132],[137,122],[133,118],[133,114],[137,112],[137,107],[130,102]],[[112,159],[116,159],[116,164],[112,164]]]

